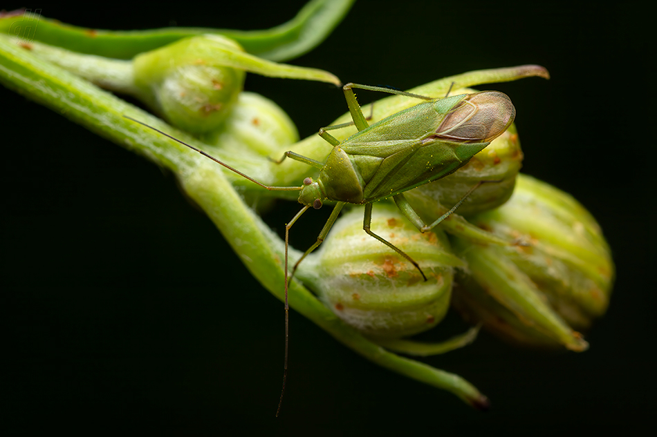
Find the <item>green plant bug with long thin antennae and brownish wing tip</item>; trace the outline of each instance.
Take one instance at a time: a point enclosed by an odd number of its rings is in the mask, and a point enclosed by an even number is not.
[[[369,126],[356,100],[353,88],[382,91],[424,99],[426,101],[411,106],[394,115]],[[299,191],[299,203],[304,207],[285,226],[285,362],[281,401],[285,391],[288,369],[289,344],[289,304],[288,282],[294,275],[302,260],[317,248],[326,238],[331,226],[337,220],[344,204],[362,204],[365,207],[363,229],[376,240],[389,246],[399,255],[411,262],[426,280],[425,274],[417,262],[394,244],[373,233],[370,229],[372,204],[387,197],[393,197],[398,208],[420,232],[428,232],[451,215],[463,203],[466,197],[480,184],[476,184],[459,202],[438,217],[431,224],[425,224],[418,213],[407,202],[403,193],[445,177],[468,163],[476,153],[483,150],[493,139],[501,135],[515,119],[515,108],[510,99],[497,91],[482,91],[473,94],[461,94],[442,99],[405,93],[378,86],[346,84],[343,86],[347,106],[353,122],[320,129],[320,136],[329,142],[333,149],[325,162],[288,151],[275,161],[282,162],[286,157],[303,162],[320,169],[317,179],[304,179],[302,186],[268,186],[237,169],[208,155],[203,150],[194,148],[167,133],[156,130],[176,142],[221,164],[230,171],[266,188],[270,191]],[[448,93],[449,94],[449,93]],[[134,122],[138,120],[126,117]],[[358,133],[340,142],[328,133],[329,130],[343,128],[354,124]],[[151,128],[146,124],[143,124]],[[331,216],[313,244],[293,266],[288,275],[289,231],[308,208],[319,209],[324,201],[337,202]],[[281,403],[277,409],[279,414]]]

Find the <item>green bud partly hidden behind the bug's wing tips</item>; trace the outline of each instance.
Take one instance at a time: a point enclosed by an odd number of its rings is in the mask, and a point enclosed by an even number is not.
[[[435,220],[478,182],[494,181],[476,188],[456,212],[472,215],[488,211],[511,197],[522,157],[517,130],[512,124],[505,133],[474,155],[468,164],[436,182],[407,191],[405,196],[416,211]]]

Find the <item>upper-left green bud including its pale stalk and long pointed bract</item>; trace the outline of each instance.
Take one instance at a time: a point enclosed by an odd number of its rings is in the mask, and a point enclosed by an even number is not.
[[[42,43],[24,48],[102,88],[145,101],[171,124],[197,137],[225,128],[246,72],[340,84],[340,79],[323,70],[249,55],[220,35],[181,39],[143,52],[132,61],[83,55]]]

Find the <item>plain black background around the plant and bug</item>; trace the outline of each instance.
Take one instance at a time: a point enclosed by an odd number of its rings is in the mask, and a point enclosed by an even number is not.
[[[4,7],[42,8],[45,17],[91,28],[248,30],[283,23],[304,1],[276,3]],[[587,336],[589,351],[525,351],[482,333],[469,347],[426,360],[489,396],[484,414],[372,365],[293,312],[288,390],[275,419],[281,303],[172,175],[0,88],[2,361],[9,365],[0,427],[8,434],[537,435],[646,425],[655,407],[654,81],[647,75],[654,40],[635,29],[648,26],[647,12],[629,2],[452,3],[358,1],[321,46],[292,63],[400,89],[481,68],[548,68],[550,81],[488,88],[517,108],[523,171],[580,200],[613,250],[618,277],[609,312]],[[246,88],[277,101],[302,137],[346,112],[342,93],[326,84],[249,75]],[[266,220],[280,231],[296,210],[281,204]],[[302,226],[307,235],[294,229],[295,246],[315,239],[323,216],[315,217]],[[463,329],[450,315],[436,336]]]

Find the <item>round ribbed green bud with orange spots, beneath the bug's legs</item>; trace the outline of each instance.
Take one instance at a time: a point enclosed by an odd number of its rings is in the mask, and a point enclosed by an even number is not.
[[[411,256],[367,235],[362,210],[340,217],[326,242],[299,266],[299,278],[344,322],[374,338],[399,338],[431,329],[449,307],[455,266],[463,266],[442,231],[418,233],[397,208],[373,206],[371,229]]]

